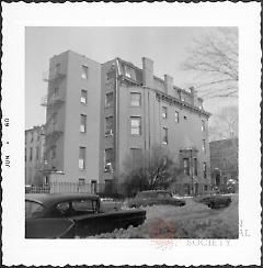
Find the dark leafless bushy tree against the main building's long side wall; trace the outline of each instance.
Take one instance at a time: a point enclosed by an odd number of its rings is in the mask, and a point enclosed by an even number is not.
[[[124,168],[123,176],[128,194],[141,190],[167,189],[181,172],[169,152],[160,145],[153,146],[150,152],[136,159],[127,156]]]

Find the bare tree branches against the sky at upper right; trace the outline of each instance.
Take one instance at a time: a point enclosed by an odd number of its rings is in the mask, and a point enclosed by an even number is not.
[[[217,27],[194,40],[184,70],[195,75],[203,98],[238,97],[238,30]]]

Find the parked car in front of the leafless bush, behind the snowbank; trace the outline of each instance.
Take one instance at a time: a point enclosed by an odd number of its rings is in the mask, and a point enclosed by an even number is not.
[[[139,208],[140,205],[153,204],[171,204],[171,205],[185,205],[182,199],[173,198],[171,192],[165,190],[141,191],[136,197],[128,201],[129,208]]]

